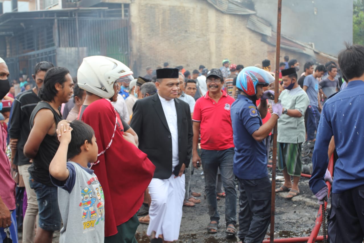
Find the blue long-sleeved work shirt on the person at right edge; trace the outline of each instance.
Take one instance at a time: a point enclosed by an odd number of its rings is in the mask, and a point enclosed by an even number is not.
[[[333,193],[364,185],[364,82],[350,81],[346,89],[329,98],[323,107],[312,155],[313,171],[309,181],[316,194],[326,186],[324,175],[331,136],[339,157],[335,163]]]

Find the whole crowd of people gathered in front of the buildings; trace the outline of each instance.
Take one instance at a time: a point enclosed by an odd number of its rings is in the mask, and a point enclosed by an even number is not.
[[[31,88],[23,79],[10,83],[0,58],[0,239],[17,242],[21,224],[23,243],[51,243],[58,230],[59,242],[133,243],[144,223],[151,243],[173,242],[182,208],[204,194],[207,233],[218,232],[217,200],[225,198],[226,237],[262,242],[277,123],[284,183],[275,192],[300,194],[301,146],[314,143],[310,186],[323,204],[335,147],[330,242],[345,242],[347,232],[349,242],[361,242],[363,63],[358,45],[341,51],[339,65],[308,61],[301,74],[298,61],[285,56],[274,93],[268,59],[245,68],[223,59],[220,68],[192,72],[165,62],[138,78],[109,57],[84,58],[76,77],[43,61]],[[191,188],[200,167],[203,193]]]

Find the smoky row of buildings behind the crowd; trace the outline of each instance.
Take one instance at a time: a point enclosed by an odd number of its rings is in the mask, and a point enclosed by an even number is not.
[[[274,0],[27,2],[30,12],[0,15],[0,56],[11,73],[30,74],[35,62],[47,59],[75,75],[88,55],[114,57],[138,75],[163,62],[211,69],[225,58],[244,66],[268,58],[275,68]],[[289,55],[302,67],[337,61],[344,41],[352,41],[353,0],[283,2],[281,60]]]

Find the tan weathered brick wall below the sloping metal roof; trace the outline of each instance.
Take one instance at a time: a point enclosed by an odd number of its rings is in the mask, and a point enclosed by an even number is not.
[[[222,66],[222,60],[244,66],[270,58],[275,47],[246,28],[248,15],[224,14],[206,0],[134,0],[130,4],[131,66],[138,75],[163,62],[192,72],[200,64]]]

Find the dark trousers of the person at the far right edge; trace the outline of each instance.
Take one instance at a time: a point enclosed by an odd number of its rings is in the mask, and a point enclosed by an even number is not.
[[[364,185],[343,193],[332,193],[328,221],[330,243],[361,243],[364,238]]]

